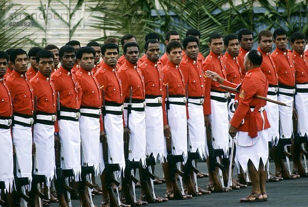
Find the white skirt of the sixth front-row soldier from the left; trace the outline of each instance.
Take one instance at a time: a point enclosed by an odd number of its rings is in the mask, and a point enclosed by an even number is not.
[[[123,141],[123,118],[122,115],[106,114],[104,117],[105,133],[108,136],[108,160],[109,163],[118,163],[121,171],[118,171],[118,177],[125,169],[124,141]],[[100,173],[105,169],[103,158],[103,146],[100,143]]]

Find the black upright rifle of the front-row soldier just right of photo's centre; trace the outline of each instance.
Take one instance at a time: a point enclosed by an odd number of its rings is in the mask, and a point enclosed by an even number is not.
[[[169,103],[169,89],[168,84],[166,84],[166,115],[167,115],[167,123],[169,125],[169,119],[168,119],[168,110],[170,109],[170,103]],[[177,183],[176,179],[176,173],[178,173],[180,176],[183,176],[184,173],[180,171],[177,168],[178,162],[183,162],[184,158],[183,155],[173,155],[172,154],[172,137],[166,137],[166,147],[167,147],[167,162],[169,167],[169,178],[171,179],[173,192],[174,192],[174,199],[183,199],[183,194],[180,191],[180,188]]]

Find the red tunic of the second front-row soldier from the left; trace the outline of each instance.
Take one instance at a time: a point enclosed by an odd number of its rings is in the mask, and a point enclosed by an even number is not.
[[[13,112],[33,115],[33,88],[26,75],[13,71],[7,78],[7,85],[13,100]]]

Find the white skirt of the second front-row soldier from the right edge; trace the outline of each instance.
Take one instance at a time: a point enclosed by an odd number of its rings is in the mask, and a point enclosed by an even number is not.
[[[279,94],[278,101],[293,106],[293,97]],[[293,134],[293,107],[278,106],[280,138],[291,138]]]

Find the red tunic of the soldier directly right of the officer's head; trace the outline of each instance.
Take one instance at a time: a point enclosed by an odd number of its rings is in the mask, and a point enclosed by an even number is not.
[[[269,54],[268,52],[266,53],[266,52],[261,51],[260,47],[258,48],[258,50],[263,55],[263,61],[262,61],[260,68],[268,80],[268,85],[277,86],[278,85],[278,74],[276,71],[274,60],[271,57],[271,54]]]

